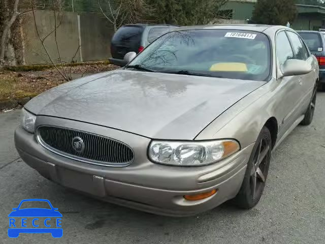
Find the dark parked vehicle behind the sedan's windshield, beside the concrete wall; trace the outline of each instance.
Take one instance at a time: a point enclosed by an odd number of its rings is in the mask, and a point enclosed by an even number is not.
[[[126,65],[123,60],[127,52],[141,52],[159,36],[177,28],[176,25],[126,24],[120,27],[111,41],[110,62],[117,66]]]

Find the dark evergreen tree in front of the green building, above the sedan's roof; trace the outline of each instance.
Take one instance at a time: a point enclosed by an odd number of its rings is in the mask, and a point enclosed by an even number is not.
[[[253,22],[257,24],[286,25],[297,16],[294,0],[257,0],[253,11]]]

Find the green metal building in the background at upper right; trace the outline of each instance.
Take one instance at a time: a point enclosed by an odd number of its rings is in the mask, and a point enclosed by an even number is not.
[[[226,3],[222,11],[232,20],[249,21],[252,18],[254,5],[257,0],[231,0]],[[284,0],[285,1],[285,0]],[[325,28],[325,8],[320,6],[297,4],[298,16],[290,27],[297,31],[318,31]]]

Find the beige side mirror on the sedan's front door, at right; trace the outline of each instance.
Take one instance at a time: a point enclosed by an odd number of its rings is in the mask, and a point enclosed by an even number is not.
[[[312,71],[311,65],[304,60],[288,59],[280,66],[282,76],[305,75]]]

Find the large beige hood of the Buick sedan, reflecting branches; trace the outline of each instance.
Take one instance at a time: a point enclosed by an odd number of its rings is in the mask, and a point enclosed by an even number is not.
[[[156,139],[194,139],[266,82],[116,70],[52,88],[25,108]]]

